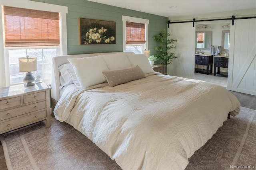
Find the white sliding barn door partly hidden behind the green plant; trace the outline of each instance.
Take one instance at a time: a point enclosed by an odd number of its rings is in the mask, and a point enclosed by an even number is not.
[[[177,39],[174,53],[178,56],[166,68],[166,73],[172,76],[194,79],[195,67],[195,35],[193,23],[171,23],[168,33],[172,39]]]

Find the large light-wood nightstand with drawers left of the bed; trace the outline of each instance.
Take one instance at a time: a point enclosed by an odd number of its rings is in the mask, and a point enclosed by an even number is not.
[[[43,82],[0,88],[0,134],[42,120],[50,127],[50,89]]]

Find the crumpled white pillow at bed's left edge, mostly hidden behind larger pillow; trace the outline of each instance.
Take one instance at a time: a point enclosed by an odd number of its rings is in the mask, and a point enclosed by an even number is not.
[[[68,73],[67,69],[74,70],[73,66],[70,63],[67,63],[67,64],[62,64],[58,68],[60,71],[60,86],[64,87],[69,84],[72,84],[73,80],[70,77],[70,74]]]

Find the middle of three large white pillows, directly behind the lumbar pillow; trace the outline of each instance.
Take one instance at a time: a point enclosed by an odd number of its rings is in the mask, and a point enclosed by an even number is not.
[[[103,58],[110,71],[132,67],[126,53],[107,54],[103,55]]]

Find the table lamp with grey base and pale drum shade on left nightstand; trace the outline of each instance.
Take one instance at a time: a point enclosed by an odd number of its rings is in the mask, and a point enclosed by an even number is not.
[[[26,76],[23,78],[25,86],[35,85],[36,78],[31,71],[37,70],[36,57],[20,57],[19,58],[19,70],[20,72],[26,72]]]

